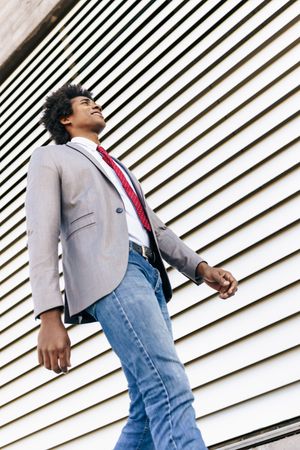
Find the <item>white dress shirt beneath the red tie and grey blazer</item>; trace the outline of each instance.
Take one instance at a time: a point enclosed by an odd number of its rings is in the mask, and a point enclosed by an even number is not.
[[[97,159],[98,162],[100,162],[101,166],[107,173],[109,179],[113,182],[116,189],[118,190],[126,211],[126,220],[127,220],[127,226],[128,226],[128,237],[131,241],[137,242],[140,245],[146,245],[147,247],[150,247],[150,239],[148,236],[147,231],[145,230],[144,226],[142,225],[139,216],[136,212],[135,207],[133,206],[130,198],[128,197],[120,178],[114,171],[112,167],[110,167],[103,159],[101,153],[97,150],[97,144],[93,142],[90,139],[84,138],[84,137],[74,137],[71,139],[71,142],[77,142],[80,144],[85,150],[87,150],[93,158]],[[118,164],[116,162],[116,164]],[[126,177],[128,183],[136,193],[136,190],[132,184],[131,179],[127,175],[127,173],[124,171],[124,169],[118,164],[118,167],[122,170],[124,176]]]

